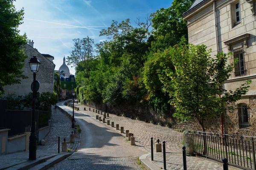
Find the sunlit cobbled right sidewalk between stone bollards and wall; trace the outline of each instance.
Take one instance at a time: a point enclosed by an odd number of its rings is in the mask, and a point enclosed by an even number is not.
[[[75,103],[75,106],[79,108],[80,112],[83,112],[89,116],[96,117],[96,115],[99,115],[97,113],[93,112],[93,108],[91,108],[91,111],[88,111],[88,107],[84,105],[79,105]],[[87,111],[83,111],[84,107],[86,107]],[[180,169],[180,166],[182,164],[182,142],[183,142],[183,133],[177,132],[172,130],[172,128],[169,127],[163,127],[160,125],[154,125],[151,123],[146,123],[140,120],[134,120],[130,118],[126,118],[123,116],[116,116],[114,114],[109,114],[110,117],[106,119],[110,120],[110,122],[115,122],[116,124],[119,124],[119,127],[123,126],[124,131],[130,130],[131,133],[134,133],[136,146],[140,149],[146,150],[148,153],[150,153],[151,150],[151,140],[150,138],[153,137],[154,143],[157,142],[157,139],[160,139],[160,141],[166,141],[166,152],[169,152],[169,154],[166,156],[166,161],[168,164],[169,169]],[[102,115],[103,117],[103,115]],[[120,130],[116,130],[117,133],[120,133]],[[125,133],[122,133],[123,136],[125,136]],[[127,138],[126,138],[127,139]],[[159,153],[157,153],[158,155]],[[163,167],[163,156],[162,154],[159,154],[159,156],[155,157],[156,161],[154,163],[158,167]],[[151,160],[151,156],[149,156],[149,160]],[[195,168],[193,170],[203,170],[208,169],[209,170],[218,170],[222,168],[222,164],[217,161],[212,161],[210,159],[204,159],[201,157],[189,157],[189,166]],[[175,162],[175,163],[173,163]],[[198,163],[200,162],[200,163]],[[236,167],[230,167],[230,170],[238,170],[239,168]],[[189,168],[188,168],[189,169]]]

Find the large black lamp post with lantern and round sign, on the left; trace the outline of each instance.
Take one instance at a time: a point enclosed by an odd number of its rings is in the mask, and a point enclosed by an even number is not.
[[[39,87],[37,87],[37,82],[35,80],[36,77],[36,73],[39,70],[41,62],[39,61],[39,59],[36,56],[33,56],[33,58],[31,58],[29,60],[29,66],[31,71],[33,72],[33,82],[32,82],[32,91],[33,91],[33,95],[32,95],[32,123],[31,123],[31,133],[29,136],[29,160],[36,160],[36,148],[37,148],[37,136],[35,133],[35,98],[36,98],[36,92],[39,90]]]

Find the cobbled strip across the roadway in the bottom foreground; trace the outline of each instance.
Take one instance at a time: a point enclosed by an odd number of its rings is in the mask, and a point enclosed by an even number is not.
[[[49,170],[142,170],[133,156],[122,158],[65,159]]]

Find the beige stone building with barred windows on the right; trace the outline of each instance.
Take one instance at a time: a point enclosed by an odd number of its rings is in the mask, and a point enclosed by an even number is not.
[[[256,135],[256,0],[195,0],[183,14],[189,43],[212,48],[212,57],[233,52],[228,64],[239,60],[224,85],[235,90],[251,79],[249,92],[224,115],[224,133]],[[217,123],[216,123],[217,122]],[[220,119],[209,120],[207,131],[221,133]]]

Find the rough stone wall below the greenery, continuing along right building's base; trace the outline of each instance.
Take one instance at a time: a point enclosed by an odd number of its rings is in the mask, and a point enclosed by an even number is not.
[[[152,111],[150,108],[141,105],[140,103],[123,103],[120,105],[111,105],[110,103],[93,103],[88,102],[88,107],[96,108],[101,111],[108,113],[122,115],[129,117],[131,119],[140,119],[145,122],[154,122],[160,123],[161,125],[168,124],[169,127],[172,127],[176,131],[187,131],[187,130],[196,130],[202,131],[201,125],[195,120],[192,122],[177,122],[172,118],[172,112],[168,113],[167,119],[164,119],[162,116]],[[239,128],[239,116],[237,103],[233,103],[233,111],[227,111],[223,114],[223,125],[225,134],[235,134],[243,136],[256,136],[256,97],[250,97],[250,104],[248,104],[248,115],[249,115],[249,127]],[[221,116],[215,116],[212,119],[206,119],[204,122],[207,132],[211,133],[221,133]]]

